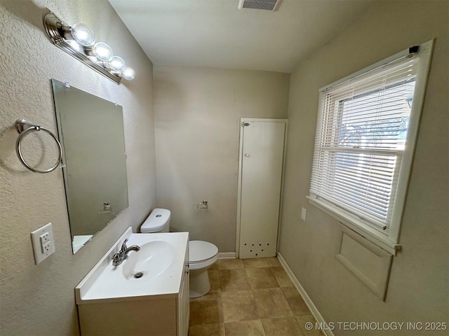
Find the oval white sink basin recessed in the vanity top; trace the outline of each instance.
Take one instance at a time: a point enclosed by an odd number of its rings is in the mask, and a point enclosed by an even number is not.
[[[130,245],[128,245],[130,246]],[[175,249],[168,241],[155,240],[131,251],[123,261],[123,276],[128,281],[149,281],[163,275],[175,258]]]

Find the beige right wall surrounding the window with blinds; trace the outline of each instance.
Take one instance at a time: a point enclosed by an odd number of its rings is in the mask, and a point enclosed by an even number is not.
[[[448,1],[380,1],[299,64],[290,78],[281,255],[328,322],[448,322]],[[335,259],[337,222],[307,202],[318,90],[395,52],[436,38],[427,97],[386,302]],[[300,209],[307,209],[307,221]],[[349,332],[335,335],[447,335]]]

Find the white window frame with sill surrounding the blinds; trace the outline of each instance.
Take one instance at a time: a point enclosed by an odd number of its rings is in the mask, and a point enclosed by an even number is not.
[[[321,127],[325,127],[325,123],[319,125],[319,120],[323,119],[322,118],[323,116],[321,116],[321,113],[323,113],[323,104],[326,102],[326,97],[325,95],[321,94],[321,92],[325,92],[330,87],[335,87],[335,85],[340,85],[365,73],[378,69],[381,66],[384,66],[385,64],[394,62],[396,59],[406,57],[407,55],[410,54],[410,52],[413,51],[413,48],[415,47],[407,48],[406,50],[398,52],[395,55],[392,55],[391,57],[387,57],[386,59],[383,59],[380,62],[377,62],[371,66],[361,69],[356,73],[353,73],[347,77],[344,77],[340,80],[330,83],[325,87],[321,87],[321,89],[319,90],[320,92],[319,110],[318,110],[319,118],[316,125],[317,134],[321,134]],[[430,40],[419,45],[418,52],[417,53],[415,52],[417,57],[419,57],[415,80],[415,92],[413,94],[413,104],[410,110],[410,121],[408,125],[408,133],[406,138],[407,145],[402,154],[401,168],[399,169],[398,183],[396,186],[396,193],[394,195],[394,209],[391,215],[391,223],[389,225],[389,230],[387,230],[387,232],[381,232],[380,230],[373,228],[373,225],[369,224],[366,221],[363,221],[355,214],[351,214],[350,211],[337,207],[333,203],[321,199],[319,195],[316,195],[313,192],[310,192],[309,195],[306,196],[309,202],[313,204],[315,207],[318,207],[319,209],[326,212],[333,218],[337,219],[337,221],[340,222],[342,225],[357,232],[359,235],[362,235],[369,241],[373,242],[380,248],[383,248],[385,251],[388,251],[393,255],[396,255],[397,251],[400,251],[401,249],[401,245],[398,244],[398,242],[399,242],[399,235],[401,232],[403,209],[406,203],[408,182],[410,180],[410,172],[413,165],[413,156],[415,153],[417,132],[420,124],[422,106],[424,104],[424,96],[427,87],[427,80],[429,76],[431,54],[433,48],[434,48],[434,40]],[[318,147],[314,148],[314,158],[316,157],[316,153],[317,151],[319,151],[319,149],[320,148]]]

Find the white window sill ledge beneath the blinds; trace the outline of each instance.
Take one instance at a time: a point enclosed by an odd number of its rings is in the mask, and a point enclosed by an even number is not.
[[[371,241],[373,244],[379,246],[391,255],[396,255],[398,251],[401,251],[401,245],[394,243],[394,241],[391,241],[384,233],[379,232],[374,228],[370,228],[368,225],[362,223],[361,221],[357,221],[356,218],[349,216],[337,207],[332,207],[327,202],[317,200],[316,198],[310,196],[306,196],[306,198],[307,200],[309,200],[310,204],[314,205],[321,211],[326,212],[326,214],[335,218],[340,224],[358,233],[358,235],[361,235],[368,241]]]

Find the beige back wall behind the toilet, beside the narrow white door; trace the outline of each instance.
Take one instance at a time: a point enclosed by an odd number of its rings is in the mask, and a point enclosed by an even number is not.
[[[154,66],[158,207],[192,240],[234,252],[239,120],[286,118],[288,73]],[[196,204],[207,199],[210,212]]]

